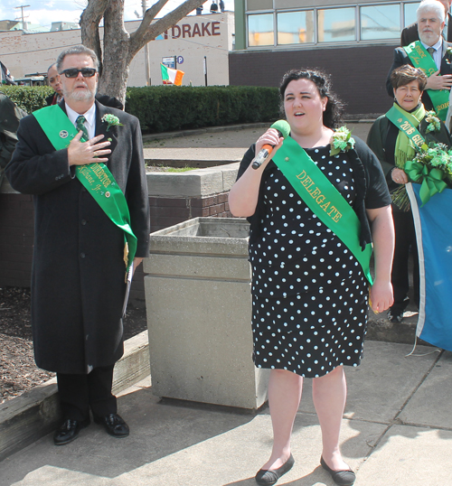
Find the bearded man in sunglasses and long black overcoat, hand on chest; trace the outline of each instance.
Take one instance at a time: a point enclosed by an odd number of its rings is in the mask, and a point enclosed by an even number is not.
[[[68,130],[54,126],[54,133],[68,141],[67,148],[56,150],[43,131],[44,123],[33,115],[25,117],[5,171],[15,190],[34,196],[34,358],[40,368],[57,373],[63,414],[53,436],[57,445],[70,443],[89,425],[89,409],[109,435],[128,435],[111,393],[113,368],[124,352],[125,237],[81,183],[80,173],[89,164],[105,164],[125,196],[137,237],[135,267],[148,255],[149,208],[139,122],[95,101],[98,67],[96,54],[84,46],[61,52],[57,69],[64,99],[59,106],[68,119],[58,113],[80,131],[69,142]],[[113,117],[113,126],[106,115]],[[46,120],[53,124],[55,115]],[[80,141],[81,136],[88,141]],[[110,197],[110,192],[101,194]]]

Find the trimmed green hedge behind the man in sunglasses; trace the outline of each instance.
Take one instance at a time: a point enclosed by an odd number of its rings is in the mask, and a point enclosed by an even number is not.
[[[28,113],[45,107],[48,86],[0,86]],[[277,88],[246,86],[149,86],[128,88],[126,111],[143,131],[160,133],[184,128],[253,123],[278,119]]]

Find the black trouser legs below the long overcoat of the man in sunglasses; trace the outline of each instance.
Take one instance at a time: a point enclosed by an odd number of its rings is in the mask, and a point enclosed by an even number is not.
[[[92,369],[88,375],[57,373],[63,419],[85,420],[117,413],[117,399],[111,393],[115,365]]]

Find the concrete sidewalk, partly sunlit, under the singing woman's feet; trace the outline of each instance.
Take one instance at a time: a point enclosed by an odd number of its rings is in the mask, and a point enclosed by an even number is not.
[[[452,484],[452,353],[367,341],[363,363],[346,369],[349,397],[342,450],[356,486]],[[433,352],[432,352],[433,351]],[[268,408],[256,416],[222,407],[160,401],[150,379],[119,398],[131,435],[91,424],[72,444],[52,435],[0,463],[0,486],[253,486],[268,459]],[[320,428],[306,379],[293,438],[296,460],[278,484],[333,486],[319,466]]]

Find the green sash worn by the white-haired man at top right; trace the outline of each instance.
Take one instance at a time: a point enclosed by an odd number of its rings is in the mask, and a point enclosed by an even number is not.
[[[420,41],[411,42],[410,45],[405,46],[403,49],[408,54],[413,66],[423,70],[427,77],[437,72],[438,68],[435,61],[433,61],[433,58]],[[443,122],[446,121],[450,91],[447,89],[427,89],[427,92],[438,117]]]

